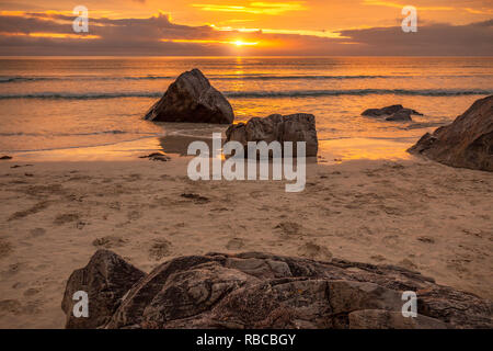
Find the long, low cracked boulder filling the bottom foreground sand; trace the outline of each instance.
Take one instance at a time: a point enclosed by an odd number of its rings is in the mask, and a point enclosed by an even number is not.
[[[96,253],[98,256],[99,253]],[[112,260],[111,256],[102,256]],[[91,262],[94,258],[91,259]],[[91,265],[90,262],[90,265]],[[180,257],[128,286],[123,264],[106,279],[119,282],[107,297],[111,320],[90,314],[101,328],[492,328],[492,303],[440,286],[392,265],[266,253]],[[77,272],[77,271],[76,271]],[[88,271],[93,280],[96,270]],[[80,288],[69,282],[71,290]],[[417,294],[417,318],[404,318],[402,292]],[[67,293],[66,293],[67,295]],[[110,308],[114,304],[114,308]],[[65,309],[67,312],[67,309]],[[105,313],[104,313],[105,314]],[[96,318],[96,320],[92,320]],[[71,327],[71,325],[68,325]]]

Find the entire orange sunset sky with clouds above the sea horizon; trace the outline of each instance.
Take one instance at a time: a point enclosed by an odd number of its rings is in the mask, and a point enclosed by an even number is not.
[[[493,56],[493,1],[0,0],[0,55]]]

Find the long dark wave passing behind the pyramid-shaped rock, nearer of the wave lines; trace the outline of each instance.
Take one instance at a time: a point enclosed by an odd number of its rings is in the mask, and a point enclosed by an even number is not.
[[[162,92],[39,92],[0,94],[0,100],[5,99],[61,99],[61,100],[94,100],[119,98],[161,98]],[[346,89],[346,90],[279,90],[279,91],[227,91],[228,98],[272,99],[272,98],[317,98],[339,95],[419,95],[419,97],[460,97],[460,95],[490,95],[493,90],[488,89]]]

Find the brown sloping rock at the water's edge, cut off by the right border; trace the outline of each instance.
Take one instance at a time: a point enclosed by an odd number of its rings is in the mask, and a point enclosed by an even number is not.
[[[493,171],[493,95],[475,101],[454,123],[426,133],[409,150],[444,165]]]

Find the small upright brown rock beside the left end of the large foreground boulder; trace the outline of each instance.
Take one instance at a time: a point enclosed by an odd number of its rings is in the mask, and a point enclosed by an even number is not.
[[[73,271],[65,290],[61,309],[66,328],[92,329],[105,325],[115,313],[119,299],[146,274],[108,250],[98,250],[83,269]],[[73,293],[83,291],[89,298],[89,318],[73,316]]]

